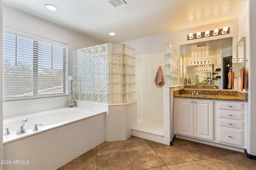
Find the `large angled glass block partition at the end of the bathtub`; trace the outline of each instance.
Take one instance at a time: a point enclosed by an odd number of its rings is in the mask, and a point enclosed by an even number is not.
[[[135,98],[135,49],[106,43],[73,51],[74,100],[106,104]]]

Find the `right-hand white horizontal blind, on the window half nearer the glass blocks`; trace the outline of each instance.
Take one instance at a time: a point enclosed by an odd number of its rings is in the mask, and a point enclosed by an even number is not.
[[[38,42],[38,95],[65,94],[66,49]]]

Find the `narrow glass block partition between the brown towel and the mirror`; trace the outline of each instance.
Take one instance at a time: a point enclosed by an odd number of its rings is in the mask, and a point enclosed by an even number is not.
[[[164,62],[165,62],[165,85],[179,85],[179,54],[178,51],[170,45],[165,44]]]

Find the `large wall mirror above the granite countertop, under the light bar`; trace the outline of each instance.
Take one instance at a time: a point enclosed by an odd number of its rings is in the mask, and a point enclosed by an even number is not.
[[[223,89],[222,79],[226,74],[222,69],[223,58],[233,57],[235,45],[236,37],[180,45],[180,55],[184,60],[184,78],[190,79],[190,84],[185,85],[184,82],[184,88],[189,85],[208,85],[204,87],[218,86]],[[233,58],[230,61],[232,63]]]

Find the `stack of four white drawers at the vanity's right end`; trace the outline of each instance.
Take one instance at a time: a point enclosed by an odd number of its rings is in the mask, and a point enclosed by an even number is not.
[[[218,141],[245,147],[246,102],[218,102]]]

